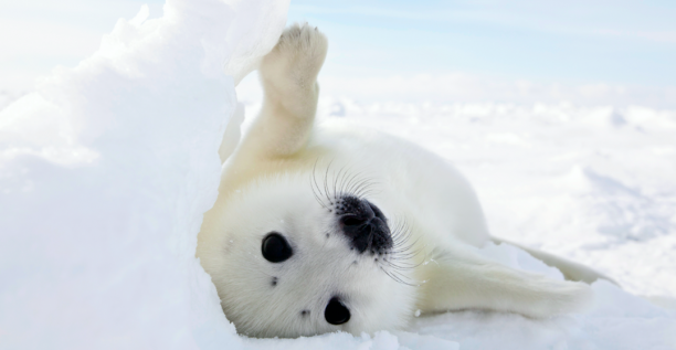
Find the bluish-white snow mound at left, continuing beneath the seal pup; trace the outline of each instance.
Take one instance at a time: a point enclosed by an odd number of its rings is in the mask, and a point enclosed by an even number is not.
[[[237,336],[194,258],[197,233],[234,86],[274,45],[287,7],[168,0],[152,20],[144,7],[92,57],[0,110],[1,348],[675,347],[673,311],[604,282],[593,310],[550,320],[464,311],[360,337]],[[561,278],[514,247],[485,254]]]

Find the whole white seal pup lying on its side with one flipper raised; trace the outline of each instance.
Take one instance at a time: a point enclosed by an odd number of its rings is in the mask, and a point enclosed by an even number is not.
[[[582,282],[478,254],[492,237],[477,197],[439,156],[339,118],[315,121],[327,47],[296,24],[263,59],[261,114],[204,214],[197,256],[240,333],[360,335],[405,328],[418,310],[548,318],[590,304]],[[530,252],[571,279],[598,277]]]

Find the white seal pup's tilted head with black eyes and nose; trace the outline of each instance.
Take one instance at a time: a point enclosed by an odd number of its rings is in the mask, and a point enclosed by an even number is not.
[[[218,219],[202,227],[198,256],[239,332],[405,326],[415,303],[406,231],[366,198],[363,183],[342,182],[270,177],[214,206]]]

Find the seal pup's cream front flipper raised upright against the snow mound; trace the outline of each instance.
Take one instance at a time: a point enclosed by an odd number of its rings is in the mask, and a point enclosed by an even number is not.
[[[253,157],[285,158],[306,145],[317,112],[317,74],[328,41],[316,28],[294,24],[258,68],[265,92],[261,115],[242,146]]]

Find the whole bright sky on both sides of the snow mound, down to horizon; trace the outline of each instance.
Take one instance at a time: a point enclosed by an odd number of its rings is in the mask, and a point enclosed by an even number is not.
[[[162,0],[0,0],[0,91],[75,66]],[[330,40],[324,92],[363,100],[676,107],[674,1],[292,0]],[[253,79],[245,84],[253,84]]]

